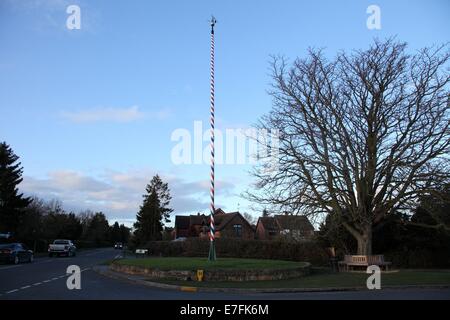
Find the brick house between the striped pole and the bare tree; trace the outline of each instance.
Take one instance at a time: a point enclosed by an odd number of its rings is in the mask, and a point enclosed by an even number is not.
[[[275,215],[261,217],[256,225],[256,237],[260,240],[273,240],[279,237],[308,240],[313,236],[314,227],[305,216]]]

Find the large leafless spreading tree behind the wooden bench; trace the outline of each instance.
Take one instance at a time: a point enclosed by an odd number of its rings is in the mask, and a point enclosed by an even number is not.
[[[332,61],[321,50],[274,58],[274,106],[258,127],[279,131],[279,166],[255,167],[248,198],[335,213],[371,254],[375,224],[450,177],[449,55],[447,45],[408,55],[388,39]]]

